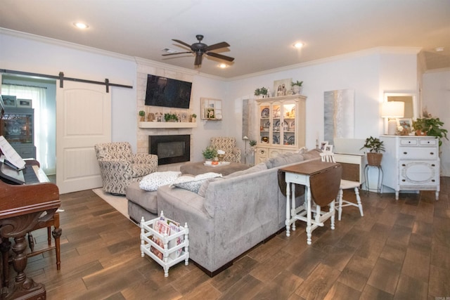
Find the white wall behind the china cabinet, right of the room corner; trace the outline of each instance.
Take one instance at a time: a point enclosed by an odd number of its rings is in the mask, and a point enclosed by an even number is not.
[[[255,89],[265,86],[273,91],[274,81],[292,78],[303,82],[307,96],[307,148],[315,148],[316,134],[323,139],[323,93],[340,89],[355,91],[354,138],[383,134],[380,102],[383,91],[416,91],[416,52],[362,51],[340,58],[299,65],[290,70],[259,74],[233,80],[229,83],[229,98],[234,99],[236,114],[243,98],[254,98]],[[257,129],[255,129],[257,130]],[[236,128],[234,136],[241,136]],[[255,136],[256,133],[255,133]],[[243,142],[241,148],[243,148]],[[362,145],[361,145],[362,146]]]

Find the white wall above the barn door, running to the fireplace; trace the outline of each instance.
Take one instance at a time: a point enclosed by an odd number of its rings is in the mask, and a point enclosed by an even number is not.
[[[136,63],[133,58],[30,34],[0,30],[0,68],[134,86],[111,87],[112,141],[128,141],[136,147]],[[67,45],[67,46],[66,46]],[[135,148],[136,149],[136,148]]]

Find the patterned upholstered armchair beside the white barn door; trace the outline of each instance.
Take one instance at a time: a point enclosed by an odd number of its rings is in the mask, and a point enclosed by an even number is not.
[[[157,155],[133,154],[127,142],[96,144],[94,149],[106,193],[125,195],[130,183],[158,171]]]

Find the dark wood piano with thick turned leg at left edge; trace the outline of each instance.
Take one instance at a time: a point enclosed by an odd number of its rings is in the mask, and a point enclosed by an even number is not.
[[[14,282],[8,284],[6,292],[1,294],[1,299],[46,299],[44,285],[25,275],[25,235],[37,228],[48,226],[48,221],[60,207],[60,200],[58,187],[49,182],[37,165],[33,166],[33,169],[37,173],[39,183],[13,185],[0,181],[0,235],[2,244],[7,243],[10,238],[14,240],[12,261],[17,273]],[[60,235],[60,231],[58,234]],[[57,260],[58,255],[57,253]]]

